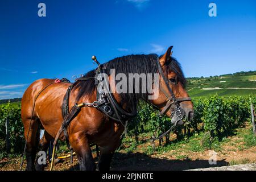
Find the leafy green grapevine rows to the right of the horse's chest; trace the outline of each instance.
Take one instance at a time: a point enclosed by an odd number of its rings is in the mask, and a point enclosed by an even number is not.
[[[250,121],[250,105],[256,104],[256,97],[223,98],[215,95],[195,99],[192,102],[195,110],[194,119],[190,123],[185,123],[184,126],[176,127],[174,131],[177,135],[176,139],[204,133],[203,146],[211,148],[214,140],[232,135],[235,129],[245,126],[246,121]],[[158,111],[151,105],[143,103],[137,118],[129,122],[128,135],[135,136],[136,142],[139,142],[138,135],[158,137],[170,127],[170,118],[159,117]],[[159,146],[162,142],[163,139],[159,139]],[[170,142],[170,135],[166,136],[164,142]]]

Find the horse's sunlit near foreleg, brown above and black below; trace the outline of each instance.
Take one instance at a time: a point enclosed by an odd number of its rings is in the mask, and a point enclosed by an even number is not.
[[[94,171],[96,165],[93,162],[92,151],[90,150],[86,136],[84,134],[72,136],[70,142],[73,150],[76,152],[77,159],[79,160],[80,170]]]

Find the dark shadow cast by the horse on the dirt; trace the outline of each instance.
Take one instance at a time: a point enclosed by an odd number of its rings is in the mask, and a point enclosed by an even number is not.
[[[210,165],[208,160],[172,160],[152,158],[142,153],[123,154],[116,152],[110,167],[111,171],[174,171],[196,168],[228,166],[225,160],[218,160],[216,165]],[[79,170],[79,165],[69,170]]]

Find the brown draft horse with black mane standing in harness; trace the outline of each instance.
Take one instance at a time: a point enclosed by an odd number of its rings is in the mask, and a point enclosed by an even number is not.
[[[115,74],[123,73],[158,73],[156,61],[159,61],[160,67],[164,73],[164,77],[170,80],[168,82],[174,96],[181,102],[179,106],[183,109],[183,115],[188,119],[193,117],[193,105],[191,101],[182,100],[188,97],[185,91],[185,78],[181,71],[179,63],[171,57],[170,47],[167,52],[158,57],[157,55],[129,55],[118,57],[114,60],[105,63],[105,68],[109,75],[110,89],[115,89],[116,82],[111,82],[113,77],[109,74],[110,69],[115,69]],[[84,77],[94,77],[94,71],[88,72]],[[63,115],[61,114],[61,106],[63,98],[67,92],[69,83],[54,83],[52,79],[40,79],[33,82],[26,90],[22,98],[22,121],[24,125],[24,135],[27,139],[26,160],[27,170],[42,170],[43,165],[36,163],[36,151],[48,148],[49,141],[55,138],[61,123]],[[51,84],[51,85],[49,85]],[[155,82],[152,82],[154,86]],[[44,89],[49,85],[46,89]],[[133,112],[134,106],[137,111],[138,100],[147,100],[152,105],[155,105],[159,110],[163,110],[171,96],[168,86],[162,76],[159,76],[158,97],[153,100],[148,100],[151,93],[114,93],[114,98],[119,106],[127,111]],[[139,86],[142,89],[142,86]],[[43,90],[44,89],[44,90]],[[43,90],[43,91],[42,91]],[[154,91],[155,92],[155,91]],[[40,94],[39,94],[40,93]],[[39,94],[39,96],[38,96]],[[36,102],[35,102],[36,100]],[[81,102],[93,103],[96,100],[96,86],[94,80],[78,80],[73,84],[73,89],[69,97],[69,107],[71,108],[76,103]],[[34,112],[32,113],[35,102]],[[171,117],[174,107],[166,111],[166,115]],[[31,121],[31,123],[30,123]],[[179,121],[181,123],[181,121]],[[31,124],[31,125],[30,125]],[[44,136],[39,141],[38,128],[45,129]],[[122,123],[114,121],[106,116],[102,111],[94,107],[82,107],[81,111],[72,120],[68,126],[69,142],[73,150],[76,152],[79,159],[81,170],[94,170],[96,165],[93,162],[92,151],[90,144],[95,143],[100,146],[100,159],[98,169],[109,170],[110,162],[114,151],[121,144],[121,135],[124,131]],[[27,137],[28,136],[28,137]],[[64,139],[64,135],[60,136]],[[39,141],[39,142],[38,142]]]

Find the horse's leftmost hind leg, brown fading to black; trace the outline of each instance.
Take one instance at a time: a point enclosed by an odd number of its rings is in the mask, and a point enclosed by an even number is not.
[[[31,123],[30,123],[31,122]],[[38,144],[37,132],[38,132],[38,122],[36,120],[27,119],[23,121],[24,123],[24,137],[27,140],[26,147],[26,160],[27,160],[27,171],[35,170],[35,156],[36,148]]]

